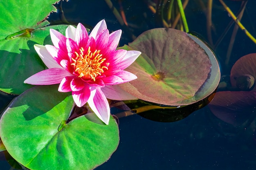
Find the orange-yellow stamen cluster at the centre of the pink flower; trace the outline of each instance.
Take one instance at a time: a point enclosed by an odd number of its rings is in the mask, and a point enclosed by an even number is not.
[[[93,53],[88,48],[87,53],[84,53],[83,47],[79,49],[79,53],[75,52],[76,58],[71,58],[74,66],[75,72],[79,75],[78,77],[83,77],[85,79],[92,79],[95,81],[95,78],[98,75],[104,73],[108,70],[109,63],[106,63],[106,58],[102,57],[100,50],[95,50]]]

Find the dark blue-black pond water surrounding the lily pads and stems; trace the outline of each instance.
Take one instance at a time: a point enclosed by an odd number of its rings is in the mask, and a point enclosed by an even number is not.
[[[161,27],[157,15],[146,5],[146,0],[112,0],[117,9],[120,4],[126,13],[126,19],[132,33],[140,33]],[[227,1],[227,5],[236,13],[241,2]],[[190,31],[195,31],[207,39],[206,0],[190,0],[185,14]],[[105,19],[110,31],[124,28],[104,0],[62,2],[58,8],[63,13],[53,13],[49,17],[52,24],[68,22],[94,26]],[[256,36],[256,1],[249,0],[241,22]],[[225,32],[231,21],[218,1],[212,8],[214,44]],[[229,64],[225,64],[227,48],[233,26],[214,49],[221,66],[221,74],[229,75],[233,64],[243,55],[256,52],[256,45],[238,30]],[[123,31],[120,46],[132,42],[130,35]],[[1,95],[1,108],[10,98]],[[237,104],[239,106],[239,103]],[[254,104],[256,106],[256,104]],[[208,106],[194,111],[188,117],[175,122],[157,122],[139,115],[119,118],[120,144],[110,160],[96,170],[255,170],[256,168],[256,123],[255,107],[244,107],[241,114],[245,116],[245,124],[237,126],[226,123],[215,117]],[[249,114],[248,114],[249,113]],[[157,113],[156,113],[157,114]],[[249,115],[246,118],[246,115]],[[12,169],[0,154],[1,170]]]

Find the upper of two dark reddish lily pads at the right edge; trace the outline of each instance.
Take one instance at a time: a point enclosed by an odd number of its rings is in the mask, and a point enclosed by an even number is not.
[[[244,78],[245,77],[245,78]],[[256,91],[256,53],[248,54],[236,61],[231,68],[232,86],[243,86],[242,91]]]

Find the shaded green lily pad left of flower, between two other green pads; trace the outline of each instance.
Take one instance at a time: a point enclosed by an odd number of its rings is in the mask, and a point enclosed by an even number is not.
[[[0,40],[0,91],[14,95],[33,87],[24,80],[46,68],[34,49],[34,44],[52,44],[49,29],[65,33],[67,25],[47,26],[32,32],[31,38]],[[12,52],[20,50],[19,53]]]

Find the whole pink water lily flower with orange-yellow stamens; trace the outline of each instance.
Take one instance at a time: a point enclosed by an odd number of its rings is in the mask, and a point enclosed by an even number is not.
[[[70,92],[77,106],[88,102],[90,108],[105,124],[110,118],[106,98],[136,99],[116,84],[137,77],[124,71],[141,54],[139,51],[116,50],[121,30],[109,34],[105,20],[101,20],[88,35],[85,27],[68,26],[65,36],[50,29],[52,45],[34,48],[48,69],[26,79],[33,85],[60,84],[58,91]]]

